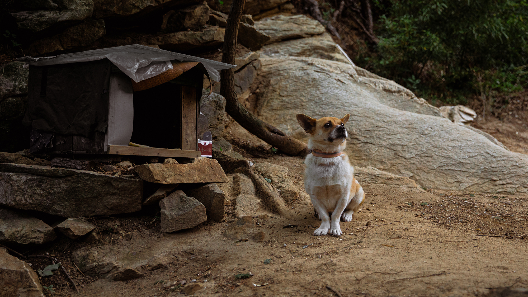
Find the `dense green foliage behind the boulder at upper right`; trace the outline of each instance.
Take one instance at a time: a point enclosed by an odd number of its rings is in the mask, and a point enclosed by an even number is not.
[[[386,4],[387,2],[385,2]],[[390,0],[373,54],[359,64],[449,104],[494,97],[528,85],[526,0]],[[495,94],[496,95],[496,94]]]

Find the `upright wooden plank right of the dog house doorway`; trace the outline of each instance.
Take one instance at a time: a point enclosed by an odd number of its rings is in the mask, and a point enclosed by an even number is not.
[[[196,125],[197,125],[197,107],[196,107],[196,88],[182,86],[182,150],[197,149]]]

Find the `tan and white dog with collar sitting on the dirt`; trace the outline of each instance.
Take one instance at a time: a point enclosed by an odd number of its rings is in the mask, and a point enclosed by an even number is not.
[[[343,153],[348,136],[344,125],[349,117],[315,119],[297,114],[297,122],[310,134],[304,188],[323,221],[314,231],[315,236],[341,236],[340,219],[350,222],[365,200],[363,188],[354,178],[354,168]]]

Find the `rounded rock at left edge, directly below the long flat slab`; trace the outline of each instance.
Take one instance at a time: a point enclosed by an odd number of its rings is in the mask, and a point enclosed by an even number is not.
[[[0,243],[43,244],[56,237],[43,221],[0,206]]]

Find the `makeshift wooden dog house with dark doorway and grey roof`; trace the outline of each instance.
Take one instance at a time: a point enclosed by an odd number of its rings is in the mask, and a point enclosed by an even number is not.
[[[46,154],[199,157],[203,75],[234,67],[138,44],[18,60],[30,65],[30,151]]]

